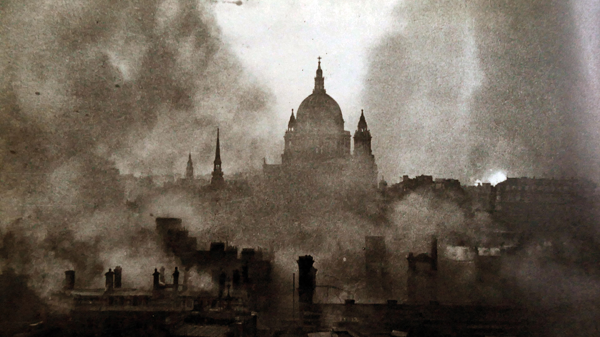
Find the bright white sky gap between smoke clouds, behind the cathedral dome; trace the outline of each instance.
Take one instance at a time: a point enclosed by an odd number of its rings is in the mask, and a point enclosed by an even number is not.
[[[389,32],[394,1],[256,1],[215,5],[224,41],[275,96],[283,137],[290,110],[314,86],[321,56],[325,89],[342,109],[346,130],[361,114],[368,49]],[[368,122],[368,112],[367,112]]]

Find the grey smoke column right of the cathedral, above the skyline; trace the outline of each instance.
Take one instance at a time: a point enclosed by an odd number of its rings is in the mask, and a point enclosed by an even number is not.
[[[584,52],[598,43],[578,23],[597,17],[576,3],[401,2],[400,28],[374,44],[365,79],[382,170],[595,179],[597,100],[586,93],[597,61]]]

